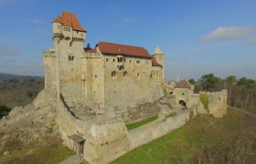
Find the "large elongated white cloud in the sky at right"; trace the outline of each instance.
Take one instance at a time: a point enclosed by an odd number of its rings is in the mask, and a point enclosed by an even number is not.
[[[255,30],[252,26],[218,27],[214,31],[202,37],[203,42],[212,40],[231,40],[249,36]]]

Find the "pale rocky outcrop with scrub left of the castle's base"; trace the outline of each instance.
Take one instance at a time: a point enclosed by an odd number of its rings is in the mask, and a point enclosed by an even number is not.
[[[59,133],[56,124],[56,94],[42,90],[32,103],[13,108],[9,115],[0,120],[0,150],[8,138],[21,143],[43,143],[47,136]]]

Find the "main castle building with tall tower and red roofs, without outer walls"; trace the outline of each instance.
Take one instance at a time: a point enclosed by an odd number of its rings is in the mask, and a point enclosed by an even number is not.
[[[63,12],[52,22],[53,48],[44,52],[45,88],[67,102],[91,101],[98,108],[129,105],[165,83],[165,56],[157,46],[99,42],[84,47],[87,31],[76,15]]]

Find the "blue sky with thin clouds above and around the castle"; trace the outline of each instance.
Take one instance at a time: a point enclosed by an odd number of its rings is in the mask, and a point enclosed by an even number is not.
[[[0,0],[0,72],[43,76],[41,52],[62,11],[77,15],[91,46],[160,46],[168,80],[256,78],[255,0]]]

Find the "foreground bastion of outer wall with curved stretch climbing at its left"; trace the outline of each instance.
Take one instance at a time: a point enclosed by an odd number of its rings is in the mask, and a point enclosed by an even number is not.
[[[85,139],[83,159],[90,163],[107,163],[117,159],[132,149],[128,132],[123,122],[90,123],[82,121],[69,112],[69,108],[59,97],[59,131],[65,145],[78,152],[77,146],[69,136],[77,134]]]

